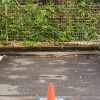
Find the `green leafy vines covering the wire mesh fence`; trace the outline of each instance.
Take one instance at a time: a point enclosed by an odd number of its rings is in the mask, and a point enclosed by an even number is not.
[[[68,2],[67,2],[68,3]],[[72,5],[69,3],[69,6]],[[56,41],[56,45],[66,41],[79,40],[83,34],[83,40],[98,39],[98,19],[100,15],[94,16],[91,5],[82,1],[75,6],[75,9],[68,9],[64,12],[66,5],[55,7],[52,5],[27,4],[23,8],[13,6],[13,11],[7,17],[0,13],[0,39],[5,41],[10,36],[18,41],[25,41],[26,45],[34,46],[34,42]],[[71,13],[72,15],[70,16]],[[61,22],[58,17],[66,19]],[[6,24],[7,23],[7,24]],[[7,34],[5,29],[7,27]],[[65,30],[66,29],[66,30]],[[9,41],[12,41],[10,39]]]

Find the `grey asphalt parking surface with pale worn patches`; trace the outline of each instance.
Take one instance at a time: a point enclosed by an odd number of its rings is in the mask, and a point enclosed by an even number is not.
[[[7,56],[0,61],[0,100],[46,97],[51,82],[56,97],[100,100],[100,56]]]

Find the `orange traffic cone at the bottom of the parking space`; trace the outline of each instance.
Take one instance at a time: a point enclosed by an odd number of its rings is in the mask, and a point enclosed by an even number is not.
[[[47,100],[55,100],[55,92],[54,92],[53,83],[49,84]]]

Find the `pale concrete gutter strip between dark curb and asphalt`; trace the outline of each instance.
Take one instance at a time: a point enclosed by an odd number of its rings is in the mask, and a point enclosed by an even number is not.
[[[0,52],[0,55],[24,55],[24,56],[100,55],[100,51],[80,51],[80,52]]]

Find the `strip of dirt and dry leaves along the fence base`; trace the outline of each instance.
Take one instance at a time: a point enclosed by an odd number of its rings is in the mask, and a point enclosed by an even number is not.
[[[100,43],[88,43],[88,42],[29,42],[28,44],[25,42],[19,41],[11,41],[11,42],[1,42],[0,47],[55,47],[55,46],[100,46]]]

